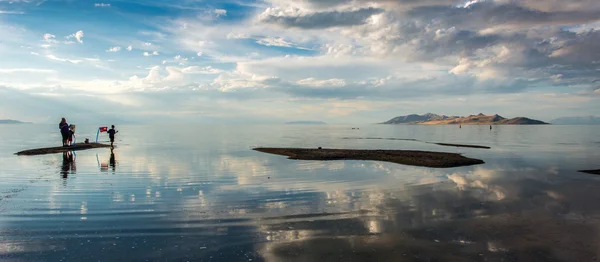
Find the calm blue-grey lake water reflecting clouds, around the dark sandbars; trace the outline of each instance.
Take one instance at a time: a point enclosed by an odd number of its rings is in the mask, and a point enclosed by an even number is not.
[[[576,172],[600,168],[600,126],[168,127],[120,126],[113,153],[70,157],[13,155],[60,144],[55,125],[0,126],[0,260],[591,261],[600,255],[600,176]],[[78,132],[80,141],[95,139],[95,127]],[[460,152],[486,164],[294,161],[252,151],[256,146]]]

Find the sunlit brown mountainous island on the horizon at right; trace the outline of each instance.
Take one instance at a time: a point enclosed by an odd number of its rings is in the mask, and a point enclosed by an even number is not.
[[[545,125],[548,123],[526,117],[511,119],[499,115],[445,116],[427,113],[407,115],[390,119],[382,124],[422,124],[422,125]]]

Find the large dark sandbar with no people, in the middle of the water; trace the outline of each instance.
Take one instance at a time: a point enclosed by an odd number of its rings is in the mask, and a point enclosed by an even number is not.
[[[308,148],[254,148],[254,150],[288,156],[295,160],[376,160],[409,166],[450,168],[483,164],[456,153],[408,151],[408,150],[353,150]]]

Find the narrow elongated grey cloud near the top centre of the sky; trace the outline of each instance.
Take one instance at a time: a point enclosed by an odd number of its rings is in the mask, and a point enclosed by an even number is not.
[[[356,11],[318,12],[296,16],[277,16],[268,14],[262,18],[262,22],[291,28],[324,29],[330,27],[361,25],[372,15],[382,12],[384,12],[383,9],[364,8]]]

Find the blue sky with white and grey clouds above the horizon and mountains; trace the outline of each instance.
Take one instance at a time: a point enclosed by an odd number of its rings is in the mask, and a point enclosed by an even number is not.
[[[600,115],[598,0],[0,0],[0,119]]]

